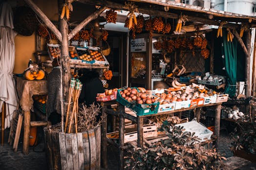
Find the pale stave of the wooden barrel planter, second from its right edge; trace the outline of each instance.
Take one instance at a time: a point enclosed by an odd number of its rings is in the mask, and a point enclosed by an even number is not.
[[[88,130],[90,143],[90,170],[96,170],[96,140],[93,129]]]

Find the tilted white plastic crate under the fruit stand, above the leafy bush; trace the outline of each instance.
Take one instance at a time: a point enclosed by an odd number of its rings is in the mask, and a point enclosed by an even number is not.
[[[213,132],[207,129],[203,124],[198,123],[197,121],[189,121],[186,123],[176,124],[175,126],[183,126],[186,132],[195,133],[194,136],[198,136],[200,138],[200,142],[205,140],[210,140]]]

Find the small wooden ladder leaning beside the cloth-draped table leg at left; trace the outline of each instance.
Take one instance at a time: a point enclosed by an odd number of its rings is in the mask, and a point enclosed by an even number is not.
[[[21,111],[19,110],[14,111],[8,143],[9,145],[13,144],[13,149],[15,152],[17,152],[18,144],[20,140],[22,120],[23,120],[23,113],[21,113]]]

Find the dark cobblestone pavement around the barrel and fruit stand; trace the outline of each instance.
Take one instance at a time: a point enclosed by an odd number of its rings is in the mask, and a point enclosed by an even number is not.
[[[220,133],[219,152],[225,153],[226,157],[233,156],[229,146],[231,139],[222,132]],[[47,170],[45,158],[44,141],[41,140],[38,146],[30,147],[28,155],[22,153],[22,141],[19,143],[18,151],[15,153],[11,146],[7,144],[9,130],[5,131],[4,146],[0,146],[0,170]],[[22,140],[22,137],[21,137]],[[36,152],[41,151],[41,152]],[[118,150],[116,147],[108,146],[108,170],[118,170]]]

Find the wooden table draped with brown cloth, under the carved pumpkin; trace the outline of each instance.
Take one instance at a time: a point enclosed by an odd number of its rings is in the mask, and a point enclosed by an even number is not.
[[[23,135],[23,153],[29,153],[29,132],[30,126],[46,126],[46,121],[30,121],[30,109],[33,106],[33,95],[47,94],[46,80],[24,80],[17,77],[17,91],[20,99],[20,105],[24,114],[24,135]]]

